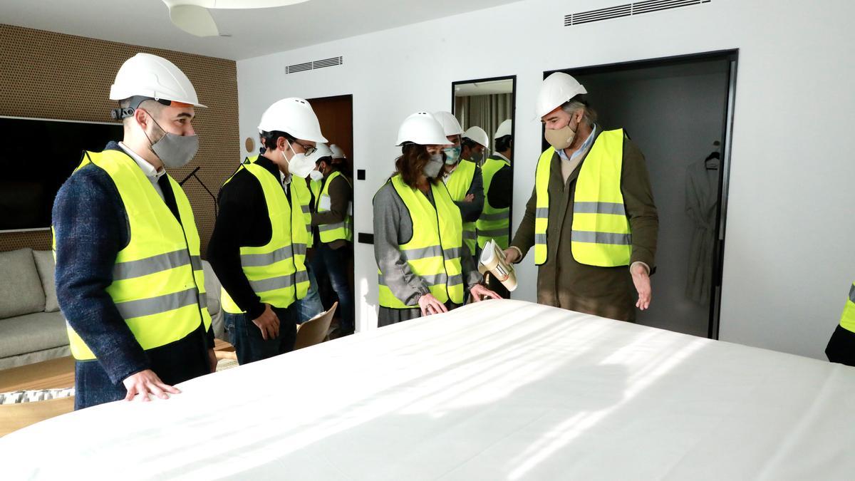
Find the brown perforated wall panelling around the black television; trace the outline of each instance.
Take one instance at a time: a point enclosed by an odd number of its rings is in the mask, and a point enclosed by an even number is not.
[[[122,62],[138,52],[174,62],[196,87],[199,102],[208,105],[197,109],[193,121],[198,154],[169,174],[180,181],[200,167],[198,177],[216,195],[241,153],[233,60],[0,24],[0,116],[111,122],[109,111],[116,104],[108,98],[109,86]],[[33,155],[27,161],[47,162],[45,168],[50,169],[50,159]],[[195,179],[188,180],[184,190],[196,215],[204,256],[214,229],[214,200]],[[49,249],[50,231],[0,233],[0,252],[21,247]]]

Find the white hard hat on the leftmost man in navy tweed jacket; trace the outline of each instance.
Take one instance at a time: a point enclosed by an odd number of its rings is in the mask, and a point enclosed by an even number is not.
[[[110,100],[135,96],[204,107],[199,104],[190,79],[180,68],[165,58],[147,53],[138,53],[122,63],[109,87]]]

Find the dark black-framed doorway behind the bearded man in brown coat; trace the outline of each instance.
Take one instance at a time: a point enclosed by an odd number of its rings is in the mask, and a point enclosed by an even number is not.
[[[737,57],[561,70],[586,87],[600,128],[623,128],[646,157],[659,236],[652,304],[638,324],[718,337]]]

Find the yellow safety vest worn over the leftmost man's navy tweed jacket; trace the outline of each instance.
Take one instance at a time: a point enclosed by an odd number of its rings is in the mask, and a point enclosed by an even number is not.
[[[139,165],[123,151],[85,152],[74,169],[92,163],[115,184],[127,212],[128,243],[116,254],[113,282],[105,289],[145,350],[180,341],[211,318],[199,257],[199,234],[190,202],[168,177],[181,222],[163,202]],[[56,252],[56,236],[54,236]],[[96,359],[68,326],[74,359]]]

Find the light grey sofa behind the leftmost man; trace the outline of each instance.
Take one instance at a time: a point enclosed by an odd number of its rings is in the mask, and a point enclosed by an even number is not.
[[[214,334],[225,339],[220,282],[210,264],[202,264]],[[0,370],[70,354],[56,300],[52,252],[0,252]]]

